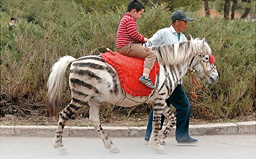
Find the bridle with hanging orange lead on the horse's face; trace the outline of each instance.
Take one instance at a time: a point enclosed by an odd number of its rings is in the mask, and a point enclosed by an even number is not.
[[[206,74],[205,76],[203,76],[203,78],[206,78],[206,77],[209,76],[209,74],[211,74],[211,72],[214,71],[214,69],[216,69],[216,66],[214,66],[214,64],[213,64],[214,61],[215,61],[215,58],[214,58],[213,55],[210,55],[206,52],[200,52],[200,53],[197,53],[196,55],[198,55],[198,54],[200,54],[202,58],[200,58],[200,59],[197,58],[197,61],[200,61],[200,64],[203,67],[203,71]],[[203,57],[205,55],[209,55],[208,61],[203,60]],[[210,70],[206,69],[206,63],[210,63],[210,66],[211,66]],[[197,77],[195,76],[195,69],[194,68],[189,70],[189,83],[190,83],[190,86],[191,86],[190,92],[192,93],[192,97],[195,100],[197,100],[198,95],[197,95],[197,93],[195,93],[195,89],[196,88],[201,89],[201,85],[200,85],[200,82],[197,80]]]

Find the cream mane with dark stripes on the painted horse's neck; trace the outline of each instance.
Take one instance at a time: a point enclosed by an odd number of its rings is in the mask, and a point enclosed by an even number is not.
[[[157,53],[157,62],[162,65],[177,65],[182,63],[191,55],[195,55],[199,50],[211,53],[211,48],[204,39],[191,39],[186,42],[164,44],[158,47],[152,46],[151,49]]]

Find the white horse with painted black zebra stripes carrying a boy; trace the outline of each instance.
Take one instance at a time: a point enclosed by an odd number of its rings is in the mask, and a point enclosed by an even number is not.
[[[64,125],[86,101],[89,101],[90,105],[89,120],[110,152],[119,152],[119,150],[99,123],[99,104],[108,102],[126,107],[142,103],[151,104],[154,108],[154,131],[149,144],[157,153],[165,154],[165,149],[160,144],[176,124],[176,118],[165,104],[165,99],[171,95],[177,82],[189,69],[195,69],[197,75],[201,78],[206,77],[210,84],[217,82],[219,74],[214,64],[209,62],[211,48],[205,39],[191,39],[181,44],[166,44],[151,49],[157,54],[159,74],[157,74],[156,88],[152,90],[150,96],[131,96],[125,93],[120,86],[116,70],[105,63],[100,55],[88,55],[78,59],[67,55],[53,65],[48,80],[50,104],[56,104],[60,100],[65,71],[71,63],[69,87],[72,101],[59,114],[59,124],[53,139],[54,146],[59,149],[61,155],[67,155],[62,144]],[[162,114],[165,115],[168,123],[166,128],[159,131]]]

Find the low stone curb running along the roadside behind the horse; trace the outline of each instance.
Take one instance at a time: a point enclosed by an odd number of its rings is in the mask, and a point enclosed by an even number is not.
[[[35,126],[35,125],[0,125],[1,136],[42,136],[53,137],[57,126]],[[146,127],[112,127],[103,126],[104,131],[110,137],[143,137]],[[170,131],[170,136],[175,136],[174,127]],[[192,136],[222,135],[222,134],[255,134],[256,121],[239,123],[217,123],[207,125],[189,125],[189,134]],[[97,137],[94,127],[65,127],[66,137]]]

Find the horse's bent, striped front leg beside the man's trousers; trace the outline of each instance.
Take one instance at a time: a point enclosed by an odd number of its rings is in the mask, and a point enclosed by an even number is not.
[[[163,112],[167,120],[167,125],[159,131],[159,139],[164,141],[167,138],[167,135],[170,133],[173,126],[176,124],[176,117],[173,115],[171,109],[165,104],[165,109]]]

